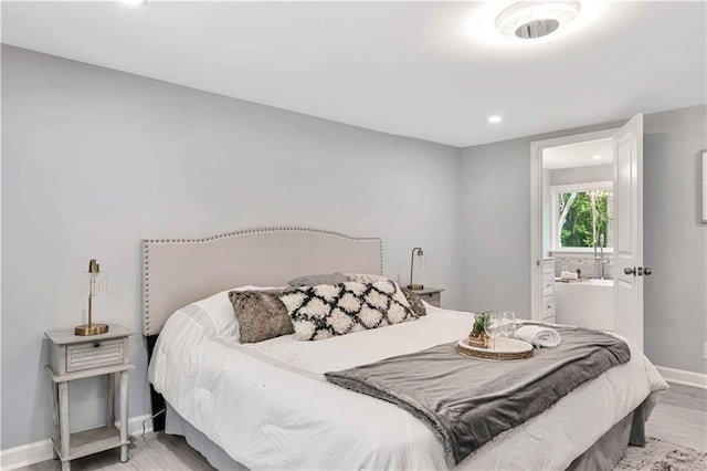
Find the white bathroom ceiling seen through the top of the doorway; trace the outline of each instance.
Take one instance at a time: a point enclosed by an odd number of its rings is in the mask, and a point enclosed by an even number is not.
[[[601,158],[594,158],[595,156]],[[589,140],[587,143],[567,144],[564,146],[542,149],[542,168],[588,167],[605,165],[614,160],[612,139]]]

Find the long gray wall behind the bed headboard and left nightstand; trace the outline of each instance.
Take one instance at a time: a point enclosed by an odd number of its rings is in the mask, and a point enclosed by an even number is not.
[[[84,322],[97,258],[103,322],[139,332],[141,238],[305,226],[383,239],[384,272],[460,306],[460,150],[15,48],[2,48],[2,443],[51,435],[43,332]],[[131,341],[129,416],[149,411]],[[71,384],[72,428],[101,423],[97,380]]]

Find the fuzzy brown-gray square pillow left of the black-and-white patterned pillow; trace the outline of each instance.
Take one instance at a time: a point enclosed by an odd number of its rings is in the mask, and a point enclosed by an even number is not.
[[[294,334],[287,308],[279,300],[284,290],[231,291],[229,300],[241,331],[241,343],[252,344]]]

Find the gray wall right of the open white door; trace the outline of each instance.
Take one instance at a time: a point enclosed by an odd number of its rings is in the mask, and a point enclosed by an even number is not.
[[[645,116],[643,253],[645,353],[661,366],[707,373],[707,224],[700,223],[700,150],[707,107]]]

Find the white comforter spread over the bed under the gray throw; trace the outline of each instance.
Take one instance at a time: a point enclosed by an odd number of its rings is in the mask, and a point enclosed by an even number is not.
[[[223,299],[225,292],[210,302],[223,306]],[[416,322],[247,345],[238,343],[228,311],[180,310],[160,334],[149,379],[181,417],[251,469],[446,469],[440,441],[421,421],[321,375],[452,342],[472,328],[468,313],[426,307]],[[630,363],[498,436],[457,469],[566,469],[648,395],[650,414],[653,391],[667,385],[629,345]]]

